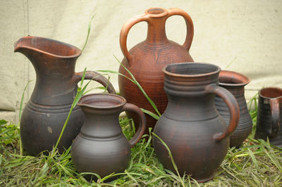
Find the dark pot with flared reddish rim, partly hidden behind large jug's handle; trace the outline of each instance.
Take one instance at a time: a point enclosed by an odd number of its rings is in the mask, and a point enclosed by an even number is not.
[[[252,118],[247,110],[247,103],[244,94],[245,86],[249,84],[250,81],[249,77],[238,72],[221,70],[219,73],[219,86],[227,89],[233,94],[233,96],[235,96],[240,108],[239,124],[230,136],[230,147],[239,148],[243,141],[245,141],[245,138],[247,138],[252,131]],[[226,103],[219,96],[216,96],[214,100],[216,109],[228,125],[230,116]]]

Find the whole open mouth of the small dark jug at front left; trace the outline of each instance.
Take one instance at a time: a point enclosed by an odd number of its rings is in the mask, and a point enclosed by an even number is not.
[[[92,93],[82,96],[79,106],[87,106],[96,109],[119,108],[125,105],[125,98],[111,93]]]

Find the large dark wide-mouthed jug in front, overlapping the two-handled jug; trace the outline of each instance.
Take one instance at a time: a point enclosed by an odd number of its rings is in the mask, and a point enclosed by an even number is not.
[[[238,103],[229,91],[218,86],[220,67],[216,65],[176,63],[163,71],[168,106],[154,133],[170,148],[181,175],[209,181],[226,156],[229,136],[238,125]],[[231,118],[227,128],[214,105],[214,95],[228,105]],[[164,167],[176,172],[168,151],[155,136],[153,145]]]

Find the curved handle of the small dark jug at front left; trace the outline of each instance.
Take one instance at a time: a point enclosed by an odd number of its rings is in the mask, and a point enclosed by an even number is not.
[[[125,103],[125,105],[123,105],[123,110],[135,112],[140,117],[140,124],[139,124],[138,130],[136,131],[135,136],[133,136],[133,138],[131,138],[130,141],[129,141],[130,148],[132,148],[133,146],[135,146],[135,144],[138,141],[140,141],[140,138],[143,136],[143,134],[145,132],[146,117],[145,117],[144,113],[140,110],[140,108],[137,107],[137,105],[133,105],[131,103]]]

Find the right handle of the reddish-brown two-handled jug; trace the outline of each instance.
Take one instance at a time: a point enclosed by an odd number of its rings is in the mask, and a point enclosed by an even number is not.
[[[180,8],[169,8],[168,17],[170,17],[171,15],[181,15],[184,18],[186,22],[187,34],[186,34],[186,39],[183,44],[183,47],[187,49],[187,51],[189,51],[190,46],[192,44],[192,39],[194,36],[194,25],[193,25],[192,19],[188,13],[181,10]]]

